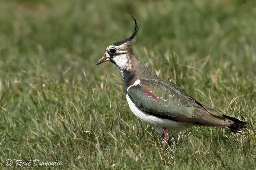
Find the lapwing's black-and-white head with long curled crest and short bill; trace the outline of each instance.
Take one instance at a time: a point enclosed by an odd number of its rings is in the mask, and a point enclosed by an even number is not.
[[[131,14],[132,15],[132,14]],[[115,42],[106,48],[106,52],[102,58],[95,64],[98,65],[105,61],[114,63],[120,70],[126,70],[130,65],[130,60],[134,58],[132,52],[132,39],[139,31],[136,19],[132,16],[135,22],[135,29],[132,35],[122,41]]]

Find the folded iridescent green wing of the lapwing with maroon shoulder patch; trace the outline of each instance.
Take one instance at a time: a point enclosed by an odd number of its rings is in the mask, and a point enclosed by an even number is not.
[[[143,112],[178,122],[218,126],[229,124],[223,114],[206,107],[184,90],[162,79],[140,79],[140,85],[131,86],[127,94]]]

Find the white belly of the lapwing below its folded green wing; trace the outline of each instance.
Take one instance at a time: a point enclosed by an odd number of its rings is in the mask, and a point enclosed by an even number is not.
[[[181,131],[191,126],[191,124],[189,123],[175,122],[169,119],[162,119],[153,115],[143,113],[135,106],[135,104],[129,98],[128,94],[126,94],[126,100],[128,101],[132,113],[136,115],[142,122],[148,123],[149,125],[156,128],[156,130],[159,128],[166,128],[168,130]]]

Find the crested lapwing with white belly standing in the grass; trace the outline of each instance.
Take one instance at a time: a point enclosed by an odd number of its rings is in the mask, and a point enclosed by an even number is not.
[[[132,40],[139,26],[132,18],[135,22],[132,35],[109,45],[95,65],[108,61],[118,67],[132,113],[161,134],[163,148],[170,137],[168,130],[183,131],[192,126],[211,126],[241,134],[241,129],[247,128],[246,122],[200,103],[179,86],[158,77],[135,58]]]

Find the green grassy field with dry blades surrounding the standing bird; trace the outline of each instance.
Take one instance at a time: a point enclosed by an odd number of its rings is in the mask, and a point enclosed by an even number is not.
[[[0,167],[255,169],[256,2],[4,0],[0,10]],[[130,111],[106,47],[140,30],[134,54],[194,98],[248,122],[242,135],[190,128],[164,152]],[[25,166],[23,166],[25,168]],[[30,166],[30,168],[38,168]]]

